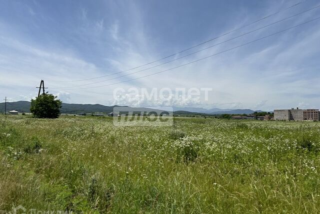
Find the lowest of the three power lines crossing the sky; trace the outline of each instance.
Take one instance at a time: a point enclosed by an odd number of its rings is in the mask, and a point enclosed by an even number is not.
[[[100,86],[94,86],[94,87],[87,87],[87,88],[78,88],[78,89],[100,88],[100,87],[105,87],[105,86],[110,86],[110,85],[116,85],[116,84],[120,84],[120,83],[124,83],[124,82],[130,82],[130,81],[133,81],[133,80],[138,80],[138,79],[142,79],[142,78],[145,78],[145,77],[149,77],[149,76],[153,76],[153,75],[156,75],[156,74],[160,74],[160,73],[163,73],[163,72],[166,72],[166,71],[170,71],[170,70],[177,69],[177,68],[180,68],[180,67],[183,67],[183,66],[186,66],[186,65],[190,65],[190,64],[192,64],[192,63],[196,63],[196,62],[199,62],[199,61],[208,59],[208,58],[210,58],[210,57],[217,56],[217,55],[219,55],[219,54],[222,54],[222,53],[225,53],[225,52],[228,52],[228,51],[231,51],[231,50],[234,50],[234,49],[237,49],[237,48],[240,48],[240,47],[249,45],[249,44],[251,44],[251,43],[257,42],[257,41],[259,41],[259,40],[266,39],[266,38],[268,38],[268,37],[271,37],[271,36],[280,34],[280,33],[282,33],[282,32],[291,30],[291,29],[293,29],[293,28],[297,28],[297,27],[299,27],[299,26],[305,25],[305,24],[307,24],[307,23],[313,22],[313,21],[318,20],[318,19],[320,19],[320,17],[317,17],[317,18],[315,18],[315,19],[312,19],[312,20],[303,22],[303,23],[301,23],[301,24],[299,24],[299,25],[295,25],[295,26],[292,26],[292,27],[290,27],[290,28],[286,28],[286,29],[281,30],[281,31],[278,31],[278,32],[276,32],[276,33],[269,34],[269,35],[267,35],[267,36],[264,36],[264,37],[261,37],[261,38],[252,40],[252,41],[247,42],[247,43],[244,43],[244,44],[242,44],[242,45],[238,45],[238,46],[235,46],[235,47],[233,47],[233,48],[230,48],[230,49],[227,49],[227,50],[224,50],[224,51],[221,51],[221,52],[218,52],[218,53],[209,55],[209,56],[207,56],[207,57],[200,58],[200,59],[197,59],[197,60],[194,60],[194,61],[191,61],[191,62],[182,64],[182,65],[179,65],[179,66],[170,68],[170,69],[162,70],[162,71],[159,71],[159,72],[156,72],[156,73],[152,73],[152,74],[149,74],[149,75],[145,75],[145,76],[138,77],[138,78],[134,78],[134,79],[130,79],[130,80],[120,81],[120,82],[117,82],[117,83],[112,83],[112,84],[107,84],[107,85],[100,85]],[[59,89],[59,88],[55,88],[55,89]]]

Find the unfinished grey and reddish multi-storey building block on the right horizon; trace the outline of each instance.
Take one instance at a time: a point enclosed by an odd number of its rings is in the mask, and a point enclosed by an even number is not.
[[[274,110],[274,120],[319,120],[320,112],[318,109],[281,109]]]

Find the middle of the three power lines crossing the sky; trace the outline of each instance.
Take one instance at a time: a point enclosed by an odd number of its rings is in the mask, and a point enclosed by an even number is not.
[[[129,76],[129,75],[132,75],[132,74],[140,73],[140,72],[143,72],[143,71],[152,69],[152,68],[156,68],[156,67],[159,67],[159,66],[161,66],[161,65],[165,65],[165,64],[168,64],[168,63],[170,63],[170,62],[173,62],[173,61],[176,61],[176,60],[179,60],[179,59],[182,59],[182,58],[191,56],[191,55],[193,55],[193,54],[199,53],[199,52],[201,52],[201,51],[207,50],[207,49],[209,49],[209,48],[213,48],[213,47],[215,47],[215,46],[218,46],[218,45],[221,45],[221,44],[223,44],[223,43],[229,42],[229,41],[231,41],[231,40],[234,40],[234,39],[243,37],[243,36],[245,36],[245,35],[251,34],[251,33],[256,32],[256,31],[259,31],[259,30],[261,30],[261,29],[270,27],[270,26],[272,26],[272,25],[275,25],[275,24],[277,24],[277,23],[280,23],[280,22],[283,22],[283,21],[285,21],[285,20],[291,19],[291,18],[296,17],[296,16],[298,16],[298,15],[301,15],[301,14],[303,14],[303,13],[306,13],[306,12],[309,12],[309,11],[311,11],[311,10],[317,9],[317,8],[319,8],[319,7],[320,7],[320,5],[315,6],[315,7],[313,7],[313,8],[310,8],[310,9],[306,10],[306,11],[303,11],[303,12],[300,12],[300,13],[297,13],[297,14],[294,14],[294,15],[292,15],[292,16],[289,16],[289,17],[284,18],[284,19],[282,19],[282,20],[276,21],[276,22],[274,22],[274,23],[265,25],[265,26],[263,26],[263,27],[260,27],[260,28],[257,28],[257,29],[255,29],[255,30],[246,32],[246,33],[244,33],[244,34],[241,34],[241,35],[239,35],[239,36],[236,36],[236,37],[233,37],[233,38],[231,38],[231,39],[225,40],[225,41],[223,41],[223,42],[214,44],[214,45],[212,45],[212,46],[203,48],[203,49],[201,49],[201,50],[192,52],[192,53],[190,53],[190,54],[187,54],[187,55],[178,57],[178,58],[176,58],[176,59],[173,59],[173,60],[170,60],[170,61],[167,61],[167,62],[158,64],[158,65],[155,65],[155,66],[152,66],[152,67],[149,67],[149,68],[145,68],[145,69],[142,69],[142,70],[139,70],[139,71],[135,71],[135,72],[132,72],[132,73],[129,73],[129,74],[124,74],[124,75],[121,75],[121,76],[118,76],[118,77],[109,78],[109,79],[106,79],[106,80],[101,80],[101,81],[97,81],[97,82],[93,82],[93,83],[87,83],[87,84],[80,84],[80,85],[75,85],[75,86],[70,86],[70,87],[62,87],[62,88],[60,88],[60,89],[72,89],[72,88],[81,87],[81,86],[93,85],[93,84],[102,83],[102,82],[106,82],[106,81],[109,81],[109,80],[114,80],[114,79],[118,79],[118,78],[121,78],[121,77]],[[122,73],[122,72],[118,72],[118,73]]]

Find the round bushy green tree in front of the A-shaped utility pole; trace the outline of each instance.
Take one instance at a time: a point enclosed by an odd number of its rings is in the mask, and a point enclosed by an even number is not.
[[[31,99],[30,112],[35,118],[58,118],[62,102],[52,94],[42,94]]]

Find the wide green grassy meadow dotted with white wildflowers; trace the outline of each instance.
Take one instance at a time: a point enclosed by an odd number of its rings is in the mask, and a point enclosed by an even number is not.
[[[320,212],[320,123],[0,116],[0,210]]]

